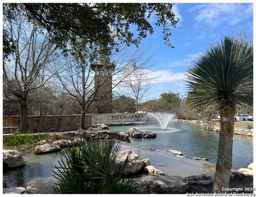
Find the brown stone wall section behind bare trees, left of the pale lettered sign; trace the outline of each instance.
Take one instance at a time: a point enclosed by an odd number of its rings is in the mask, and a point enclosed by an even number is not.
[[[81,115],[28,116],[27,131],[74,131],[80,127]],[[86,115],[85,125],[92,124],[92,115]],[[17,126],[20,130],[20,116],[3,116],[3,127]]]

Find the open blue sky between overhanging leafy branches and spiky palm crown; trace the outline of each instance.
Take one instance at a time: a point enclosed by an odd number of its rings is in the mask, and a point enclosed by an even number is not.
[[[170,36],[175,48],[164,44],[162,28],[155,28],[154,35],[149,35],[141,43],[143,47],[150,48],[148,53],[154,55],[155,67],[163,72],[157,81],[152,82],[144,100],[159,98],[162,92],[168,91],[185,96],[185,71],[191,61],[207,48],[207,44],[219,41],[235,29],[245,29],[253,35],[252,3],[175,3],[173,11],[180,18]]]

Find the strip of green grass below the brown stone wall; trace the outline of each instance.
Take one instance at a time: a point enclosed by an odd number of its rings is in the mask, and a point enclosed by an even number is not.
[[[33,133],[28,134],[14,134],[8,135],[3,138],[4,145],[21,145],[21,144],[33,144],[41,140],[49,139],[50,134],[45,133],[42,135],[35,135]]]

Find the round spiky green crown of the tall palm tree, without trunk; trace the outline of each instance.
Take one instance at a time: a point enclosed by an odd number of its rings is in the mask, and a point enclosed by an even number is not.
[[[196,106],[253,102],[253,49],[225,37],[199,55],[187,71],[189,100]]]

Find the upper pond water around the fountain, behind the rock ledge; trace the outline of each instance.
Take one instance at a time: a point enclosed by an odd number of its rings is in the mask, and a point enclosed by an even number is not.
[[[131,127],[157,134],[155,139],[131,139],[132,144],[159,150],[174,149],[187,157],[208,158],[213,163],[217,161],[219,133],[201,130],[198,124],[169,122],[165,130],[159,124],[109,126],[109,129],[126,132]],[[234,134],[233,139],[233,168],[247,168],[253,162],[253,138]]]

